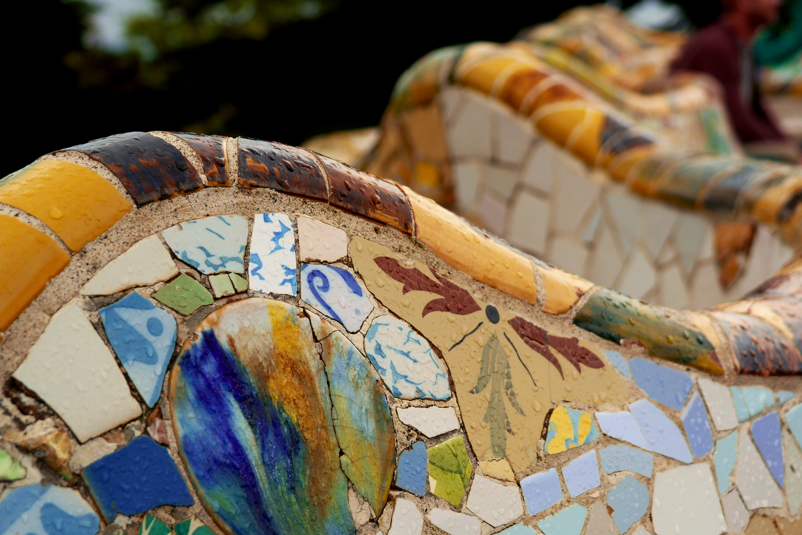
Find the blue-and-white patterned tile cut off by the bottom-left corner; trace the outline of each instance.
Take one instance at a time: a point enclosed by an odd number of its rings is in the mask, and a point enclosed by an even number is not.
[[[71,488],[38,483],[0,499],[0,535],[95,535],[99,517]]]

